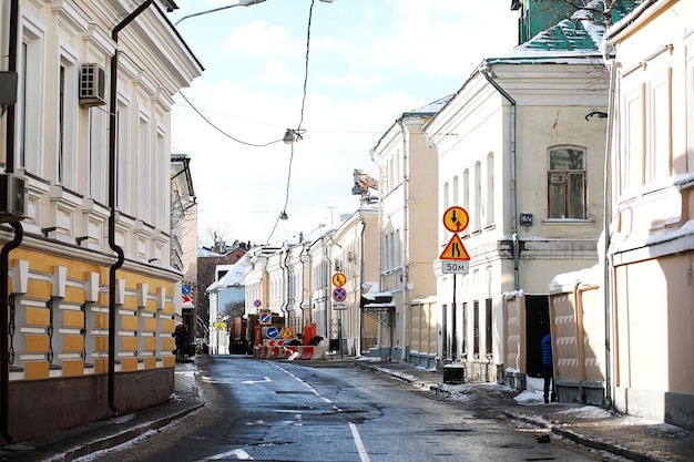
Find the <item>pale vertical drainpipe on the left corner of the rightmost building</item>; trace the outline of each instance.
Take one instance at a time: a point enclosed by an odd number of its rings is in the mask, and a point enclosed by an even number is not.
[[[610,265],[610,165],[612,158],[612,130],[614,124],[614,85],[616,74],[616,63],[614,58],[610,58],[610,54],[614,53],[614,45],[608,40],[603,42],[603,60],[610,68],[610,90],[608,94],[608,133],[605,138],[605,164],[604,164],[604,181],[603,181],[603,304],[604,304],[604,317],[605,317],[605,409],[611,409],[612,402],[612,284],[611,284],[611,265]]]

